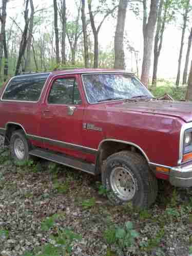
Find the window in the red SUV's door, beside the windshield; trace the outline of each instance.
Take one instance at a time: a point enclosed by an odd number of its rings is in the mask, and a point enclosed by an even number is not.
[[[48,103],[50,104],[81,104],[81,95],[75,78],[56,79],[51,87]]]

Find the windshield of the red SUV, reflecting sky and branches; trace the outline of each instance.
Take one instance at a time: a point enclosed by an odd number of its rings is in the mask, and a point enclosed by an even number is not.
[[[89,103],[153,97],[135,76],[128,74],[83,75],[83,83]]]

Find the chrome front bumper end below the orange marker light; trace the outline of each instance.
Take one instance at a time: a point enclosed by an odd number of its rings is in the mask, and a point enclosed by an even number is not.
[[[192,163],[171,168],[169,181],[171,185],[176,187],[192,187]]]

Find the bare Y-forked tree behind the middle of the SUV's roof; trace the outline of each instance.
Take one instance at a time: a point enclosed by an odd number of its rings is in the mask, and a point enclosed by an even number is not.
[[[89,0],[89,2],[88,2],[89,16],[90,16],[91,28],[92,28],[93,36],[94,36],[94,68],[98,68],[98,64],[99,64],[99,41],[98,41],[99,31],[100,31],[101,26],[103,25],[104,21],[106,20],[106,18],[110,14],[112,14],[118,6],[115,6],[112,9],[108,9],[106,11],[106,14],[104,15],[103,19],[101,20],[98,28],[96,28],[95,22],[94,22],[95,15],[93,15],[91,3],[92,3],[92,0]]]

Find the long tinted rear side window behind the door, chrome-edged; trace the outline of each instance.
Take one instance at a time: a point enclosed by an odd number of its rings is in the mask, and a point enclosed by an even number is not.
[[[49,74],[14,77],[8,84],[3,100],[37,101]]]

